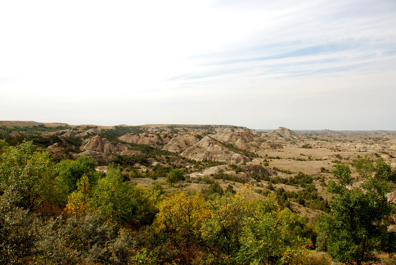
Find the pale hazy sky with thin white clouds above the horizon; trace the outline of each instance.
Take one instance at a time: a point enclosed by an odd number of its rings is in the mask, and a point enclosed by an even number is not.
[[[0,120],[396,131],[396,1],[0,1]]]

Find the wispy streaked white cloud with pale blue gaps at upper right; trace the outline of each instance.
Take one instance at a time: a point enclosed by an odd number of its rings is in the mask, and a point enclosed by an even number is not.
[[[255,25],[249,37],[240,43],[186,58],[193,65],[190,68],[193,74],[167,80],[206,78],[230,72],[257,75],[257,71],[262,75],[273,73],[282,76],[343,74],[362,66],[365,66],[365,72],[370,72],[367,66],[375,65],[371,71],[378,71],[377,62],[394,59],[394,2],[317,1],[295,4],[284,1],[280,6],[267,4],[252,2],[252,9],[249,9],[249,1],[247,4],[219,3],[218,7],[232,10],[243,5],[245,15],[250,12],[253,17],[260,15],[257,10],[261,10],[268,17],[264,16],[261,26]],[[383,71],[392,71],[396,65],[385,63],[383,66]]]

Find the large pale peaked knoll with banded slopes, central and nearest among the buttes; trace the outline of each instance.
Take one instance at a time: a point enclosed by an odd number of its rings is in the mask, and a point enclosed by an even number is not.
[[[202,161],[204,159],[225,163],[245,163],[251,161],[250,157],[230,151],[208,136],[205,136],[198,143],[187,148],[181,155],[196,161]]]

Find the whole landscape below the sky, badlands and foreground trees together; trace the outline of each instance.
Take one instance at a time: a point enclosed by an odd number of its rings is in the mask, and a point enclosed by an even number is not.
[[[358,223],[377,240],[364,253],[392,261],[395,144],[394,131],[0,121],[0,242],[20,242],[6,257],[26,264],[251,264],[267,242],[265,264],[329,265],[344,259],[333,246],[363,244]]]

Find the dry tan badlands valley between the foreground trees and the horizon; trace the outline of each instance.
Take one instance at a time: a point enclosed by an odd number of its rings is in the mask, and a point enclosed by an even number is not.
[[[169,191],[200,192],[217,182],[222,189],[231,185],[234,190],[249,184],[256,197],[265,197],[281,188],[297,193],[303,192],[305,186],[282,182],[302,172],[312,178],[310,183],[320,199],[331,200],[327,184],[337,163],[351,164],[354,159],[370,155],[396,166],[394,131],[291,131],[284,127],[254,130],[233,125],[100,126],[29,121],[0,121],[0,126],[1,137],[10,143],[20,142],[24,137],[31,139],[57,161],[89,155],[97,163],[97,170],[106,172],[109,164],[114,163],[138,186],[151,187],[155,183]],[[183,170],[185,180],[169,185],[166,174],[171,168]],[[354,168],[350,168],[354,176]],[[272,191],[268,188],[270,184]],[[292,210],[310,219],[320,211],[297,200],[289,202]]]

